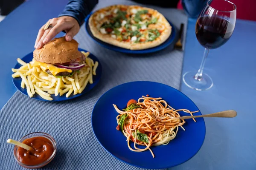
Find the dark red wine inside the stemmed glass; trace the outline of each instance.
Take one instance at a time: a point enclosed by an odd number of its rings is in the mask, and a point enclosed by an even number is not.
[[[218,16],[202,16],[195,25],[198,42],[204,48],[214,49],[225,44],[231,37],[234,26]]]

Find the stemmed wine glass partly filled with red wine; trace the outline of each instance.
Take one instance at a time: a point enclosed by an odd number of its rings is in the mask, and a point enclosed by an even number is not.
[[[183,75],[183,82],[198,91],[212,87],[212,79],[203,73],[204,64],[210,49],[224,45],[233,34],[236,25],[236,5],[228,0],[209,0],[198,16],[195,34],[205,48],[204,57],[198,71]]]

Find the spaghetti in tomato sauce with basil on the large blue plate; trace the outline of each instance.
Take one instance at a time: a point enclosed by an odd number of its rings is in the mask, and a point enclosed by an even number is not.
[[[161,97],[142,96],[138,101],[132,99],[123,111],[119,110],[116,105],[113,104],[113,106],[119,113],[116,116],[118,123],[116,129],[121,130],[126,136],[129,149],[134,152],[150,150],[153,158],[154,153],[150,146],[166,145],[175,138],[179,127],[185,130],[182,127],[185,121],[175,119],[180,117],[178,112],[183,111],[191,115],[198,112],[187,109],[175,110]],[[134,142],[134,149],[130,146],[130,140]],[[144,145],[145,148],[138,148],[136,144]]]

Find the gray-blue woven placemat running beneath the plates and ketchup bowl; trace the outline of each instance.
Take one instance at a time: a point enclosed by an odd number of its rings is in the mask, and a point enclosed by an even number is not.
[[[134,4],[120,0],[112,0],[111,3],[101,1],[96,8],[118,3]],[[148,7],[163,13],[177,28],[181,22],[184,23],[186,30],[187,18],[182,11]],[[102,94],[125,82],[148,80],[178,89],[183,52],[173,51],[173,45],[145,55],[110,51],[91,40],[84,26],[75,39],[80,43],[80,48],[99,58],[103,70],[99,84],[88,94],[64,102],[38,101],[16,92],[0,111],[1,170],[22,169],[14,159],[13,145],[7,144],[6,140],[19,140],[22,136],[37,131],[49,133],[57,142],[56,156],[43,167],[45,170],[142,170],[114,158],[97,142],[91,127],[93,106]]]

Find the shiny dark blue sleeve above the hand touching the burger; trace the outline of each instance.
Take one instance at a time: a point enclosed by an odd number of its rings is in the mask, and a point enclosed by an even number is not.
[[[79,26],[81,26],[84,23],[85,17],[90,14],[98,2],[98,0],[69,0],[64,11],[58,17],[73,17],[77,20]]]

